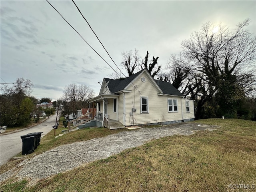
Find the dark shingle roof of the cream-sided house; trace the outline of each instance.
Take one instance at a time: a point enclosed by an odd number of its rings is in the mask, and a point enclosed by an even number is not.
[[[125,79],[109,79],[104,78],[106,82],[109,81],[108,88],[110,92],[115,93],[120,90],[123,90],[134,78],[136,78],[141,71],[133,74],[132,76],[125,78]],[[155,80],[157,84],[158,80]],[[164,94],[168,95],[176,95],[176,96],[183,96],[182,93],[180,93],[172,84],[164,81],[158,81],[158,86],[163,91]]]

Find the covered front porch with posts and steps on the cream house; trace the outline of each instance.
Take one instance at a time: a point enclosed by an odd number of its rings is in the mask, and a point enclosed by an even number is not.
[[[93,106],[96,103],[96,115],[94,116],[94,120],[97,121],[96,124],[101,123],[102,127],[108,129],[125,128],[119,121],[118,97],[118,94],[101,94],[88,100]]]

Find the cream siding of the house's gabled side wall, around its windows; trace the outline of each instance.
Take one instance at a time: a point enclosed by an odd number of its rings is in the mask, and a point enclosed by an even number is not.
[[[142,82],[142,77],[146,79],[145,82]],[[134,85],[136,85],[136,88],[134,88]],[[133,84],[131,84],[127,88],[127,90],[131,90],[131,92],[125,93],[126,126],[132,125],[133,123],[134,125],[136,125],[182,120],[182,113],[181,110],[179,110],[181,109],[180,98],[175,96],[159,96],[159,92],[154,88],[154,86],[148,79],[148,76],[141,74],[133,82]],[[148,98],[148,113],[141,111],[142,97]],[[179,110],[178,112],[168,113],[168,109],[166,106],[168,98],[177,100],[177,109]],[[136,108],[136,112],[134,112],[133,116],[131,117],[130,112],[132,112],[132,108]],[[121,111],[119,111],[119,113],[121,113]],[[119,120],[121,119],[119,118]]]

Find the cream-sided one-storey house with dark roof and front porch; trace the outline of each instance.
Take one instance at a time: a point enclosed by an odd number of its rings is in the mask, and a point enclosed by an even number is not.
[[[172,84],[154,80],[145,69],[125,79],[104,78],[100,94],[88,102],[96,102],[96,120],[109,116],[123,126],[194,120],[193,100]]]

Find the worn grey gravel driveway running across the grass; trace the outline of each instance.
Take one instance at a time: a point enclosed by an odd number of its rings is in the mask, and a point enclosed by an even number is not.
[[[2,182],[10,176],[29,178],[32,182],[47,178],[60,172],[72,170],[84,163],[108,158],[128,148],[140,146],[152,139],[172,135],[191,135],[197,130],[214,130],[218,126],[181,123],[157,128],[139,128],[127,132],[94,138],[88,141],[75,142],[46,151],[31,159],[24,160],[17,167],[1,174]]]

